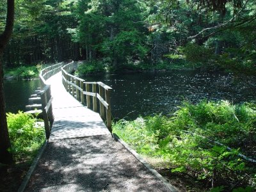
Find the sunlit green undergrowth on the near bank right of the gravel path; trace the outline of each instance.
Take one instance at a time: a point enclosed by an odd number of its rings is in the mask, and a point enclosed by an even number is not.
[[[212,191],[253,191],[256,113],[248,104],[184,102],[172,117],[120,120],[113,132],[144,156],[163,158]],[[244,157],[244,156],[246,157]],[[245,189],[247,187],[247,189]],[[244,188],[244,189],[243,189]]]

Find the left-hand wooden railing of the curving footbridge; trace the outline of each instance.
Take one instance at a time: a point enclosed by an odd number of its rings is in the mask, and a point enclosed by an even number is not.
[[[46,83],[46,80],[49,77],[55,75],[60,72],[63,63],[58,63],[56,65],[52,65],[50,67],[46,67],[40,71],[39,79],[40,79],[40,97],[42,102],[42,114],[44,118],[44,127],[45,127],[45,137],[47,140],[49,139],[51,127],[54,121],[54,115],[52,113],[52,95],[51,95],[51,85]]]

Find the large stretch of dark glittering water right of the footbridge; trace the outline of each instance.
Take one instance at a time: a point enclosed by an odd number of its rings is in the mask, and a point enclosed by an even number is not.
[[[114,118],[133,119],[138,115],[175,111],[182,100],[202,99],[255,102],[255,77],[234,77],[196,71],[157,74],[125,74],[84,77],[102,81],[113,88],[111,107]]]

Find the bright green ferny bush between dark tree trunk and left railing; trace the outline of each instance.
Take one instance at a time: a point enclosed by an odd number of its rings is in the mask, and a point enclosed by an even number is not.
[[[7,114],[7,124],[16,161],[31,160],[45,141],[44,127],[36,125],[36,118],[19,111]]]

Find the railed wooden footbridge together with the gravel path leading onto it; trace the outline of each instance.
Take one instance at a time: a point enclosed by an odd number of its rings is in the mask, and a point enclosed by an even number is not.
[[[177,191],[123,141],[113,140],[112,89],[72,76],[76,67],[72,61],[40,72],[47,145],[19,191]]]

